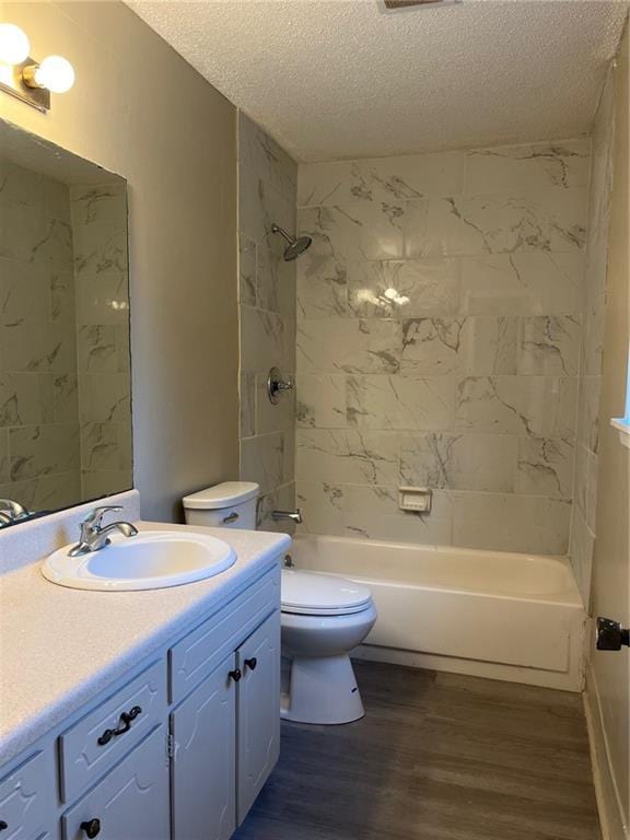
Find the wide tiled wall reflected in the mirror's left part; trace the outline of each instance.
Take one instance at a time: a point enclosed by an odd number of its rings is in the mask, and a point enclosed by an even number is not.
[[[61,508],[81,498],[69,192],[0,167],[0,494]]]

